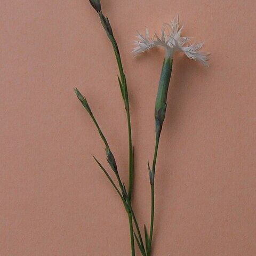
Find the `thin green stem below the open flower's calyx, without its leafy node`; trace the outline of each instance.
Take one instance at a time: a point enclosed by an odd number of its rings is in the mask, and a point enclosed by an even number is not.
[[[156,167],[156,158],[157,158],[159,139],[160,137],[156,137],[155,154],[154,154],[153,167],[152,167],[154,176],[155,176],[155,167]],[[153,238],[154,210],[155,210],[155,196],[154,196],[154,183],[153,183],[153,185],[151,185],[151,221],[150,221],[150,235],[149,235],[149,243],[148,243],[148,256],[150,256],[151,244],[152,244],[152,238]]]

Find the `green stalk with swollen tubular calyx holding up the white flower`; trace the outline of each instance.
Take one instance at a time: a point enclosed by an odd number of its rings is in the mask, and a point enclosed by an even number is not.
[[[147,256],[150,256],[151,245],[153,239],[153,228],[154,228],[154,211],[155,211],[155,195],[154,195],[154,180],[155,180],[155,168],[156,159],[159,146],[159,139],[165,119],[165,112],[167,106],[167,93],[169,89],[171,74],[172,74],[172,54],[167,55],[163,62],[161,77],[159,81],[156,103],[155,103],[155,122],[156,122],[156,143],[155,143],[155,153],[153,159],[152,169],[150,171],[150,185],[151,185],[151,220],[150,220],[150,235],[147,247]]]

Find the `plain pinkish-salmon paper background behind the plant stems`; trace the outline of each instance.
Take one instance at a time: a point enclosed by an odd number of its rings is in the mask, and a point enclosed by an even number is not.
[[[136,30],[177,13],[210,68],[175,55],[156,174],[153,255],[256,255],[254,0],[102,0],[123,57],[135,145],[134,209],[149,226],[147,159],[164,53],[131,55]],[[86,0],[1,0],[0,255],[130,255],[128,221],[94,163],[127,182],[126,116],[111,45]],[[139,255],[139,253],[138,253]]]

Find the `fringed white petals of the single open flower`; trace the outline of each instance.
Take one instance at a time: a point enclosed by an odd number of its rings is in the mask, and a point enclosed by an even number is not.
[[[199,60],[206,67],[208,67],[207,61],[210,59],[209,52],[198,52],[202,47],[203,43],[194,43],[188,45],[190,41],[189,37],[181,37],[181,30],[183,26],[179,28],[179,15],[173,18],[170,23],[164,23],[162,27],[162,35],[159,38],[156,33],[153,38],[149,37],[148,28],[146,28],[146,35],[142,36],[138,31],[138,40],[134,40],[135,47],[133,49],[133,54],[137,55],[141,52],[145,52],[153,47],[164,47],[166,51],[166,57],[172,58],[175,51],[184,52],[189,59]]]

